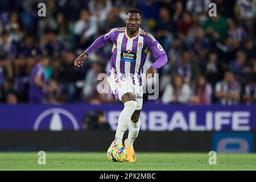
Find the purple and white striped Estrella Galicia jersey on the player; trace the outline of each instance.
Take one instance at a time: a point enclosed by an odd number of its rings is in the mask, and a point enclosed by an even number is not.
[[[151,67],[158,69],[167,62],[163,47],[151,34],[141,28],[134,38],[127,35],[126,27],[113,28],[108,34],[100,36],[85,52],[89,55],[107,42],[113,43],[109,74],[114,72],[122,75],[134,84],[142,85],[143,65],[149,51],[155,58],[165,55],[163,60],[156,61]]]

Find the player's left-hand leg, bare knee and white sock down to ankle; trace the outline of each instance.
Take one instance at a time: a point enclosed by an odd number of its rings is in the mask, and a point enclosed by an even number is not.
[[[137,101],[134,97],[133,93],[125,93],[122,96],[122,102],[125,105],[121,114],[118,118],[117,132],[115,133],[114,142],[117,144],[122,144],[123,134],[125,133],[127,126],[131,120],[131,116],[133,115],[136,107]]]

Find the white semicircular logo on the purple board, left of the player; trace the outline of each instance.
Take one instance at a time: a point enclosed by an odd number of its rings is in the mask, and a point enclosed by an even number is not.
[[[79,130],[76,118],[68,110],[62,108],[47,109],[36,118],[34,130]]]

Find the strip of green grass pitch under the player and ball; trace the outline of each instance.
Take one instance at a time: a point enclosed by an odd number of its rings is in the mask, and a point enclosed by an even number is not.
[[[217,154],[209,165],[205,153],[137,152],[136,163],[113,163],[106,152],[46,152],[46,165],[36,152],[0,152],[0,170],[256,170],[256,154]]]

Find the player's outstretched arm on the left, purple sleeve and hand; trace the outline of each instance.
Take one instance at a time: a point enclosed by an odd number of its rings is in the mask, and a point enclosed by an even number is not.
[[[75,67],[82,66],[82,62],[93,51],[96,51],[97,49],[103,47],[108,42],[113,42],[113,36],[114,36],[113,31],[114,30],[115,30],[115,28],[110,30],[110,32],[108,32],[108,34],[104,34],[104,35],[101,35],[100,37],[98,37],[98,39],[96,39],[92,43],[92,45],[84,51],[84,53],[82,53],[79,57],[77,57],[77,59],[74,61]]]

